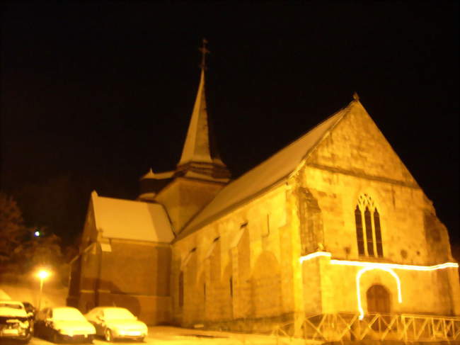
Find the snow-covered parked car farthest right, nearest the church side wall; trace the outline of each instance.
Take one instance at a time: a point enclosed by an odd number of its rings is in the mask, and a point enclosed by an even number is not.
[[[144,341],[148,333],[147,325],[126,308],[96,307],[85,317],[96,328],[96,334],[103,336],[106,341],[120,338]]]

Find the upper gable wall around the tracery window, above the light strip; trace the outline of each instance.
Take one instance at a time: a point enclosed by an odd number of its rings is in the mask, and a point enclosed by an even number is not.
[[[340,257],[357,258],[354,211],[366,193],[380,214],[385,259],[419,265],[452,260],[447,230],[432,204],[364,108],[355,109],[312,152],[301,173],[300,183],[321,208],[326,246]],[[437,239],[425,231],[427,214]],[[433,246],[440,250],[433,252]]]

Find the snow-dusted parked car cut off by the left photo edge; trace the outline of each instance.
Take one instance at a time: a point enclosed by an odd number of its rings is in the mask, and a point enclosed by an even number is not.
[[[0,339],[18,339],[27,344],[31,337],[30,321],[23,303],[0,300]]]

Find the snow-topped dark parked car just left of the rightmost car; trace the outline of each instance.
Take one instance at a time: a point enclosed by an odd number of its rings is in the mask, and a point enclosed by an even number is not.
[[[92,343],[96,329],[74,307],[45,308],[35,318],[35,336],[54,343],[80,341]]]

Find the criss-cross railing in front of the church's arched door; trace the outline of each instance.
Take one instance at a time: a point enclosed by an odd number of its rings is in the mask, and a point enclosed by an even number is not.
[[[277,337],[292,336],[316,341],[451,341],[460,340],[460,317],[435,315],[384,315],[341,312],[305,317],[294,324],[280,324],[272,332]]]

